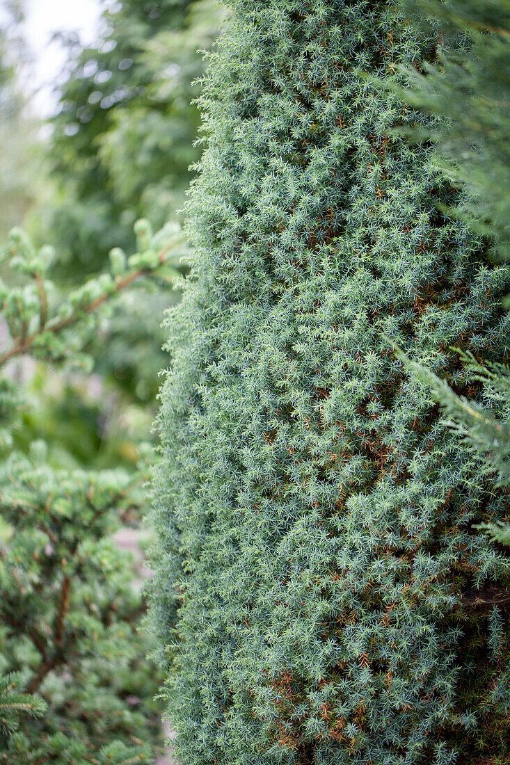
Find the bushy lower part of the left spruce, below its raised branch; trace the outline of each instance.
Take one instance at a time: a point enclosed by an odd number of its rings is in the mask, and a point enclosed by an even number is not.
[[[44,452],[36,442],[0,471],[0,666],[46,702],[0,735],[0,753],[9,765],[150,763],[163,745],[158,678],[132,562],[113,538],[122,506],[139,504],[132,477],[53,470]]]

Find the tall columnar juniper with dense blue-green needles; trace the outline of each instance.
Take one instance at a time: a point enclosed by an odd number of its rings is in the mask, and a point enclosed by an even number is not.
[[[186,765],[507,761],[508,499],[393,343],[471,398],[508,265],[419,116],[365,77],[435,41],[394,2],[229,0],[168,319],[152,614]],[[501,758],[498,760],[498,757]]]

